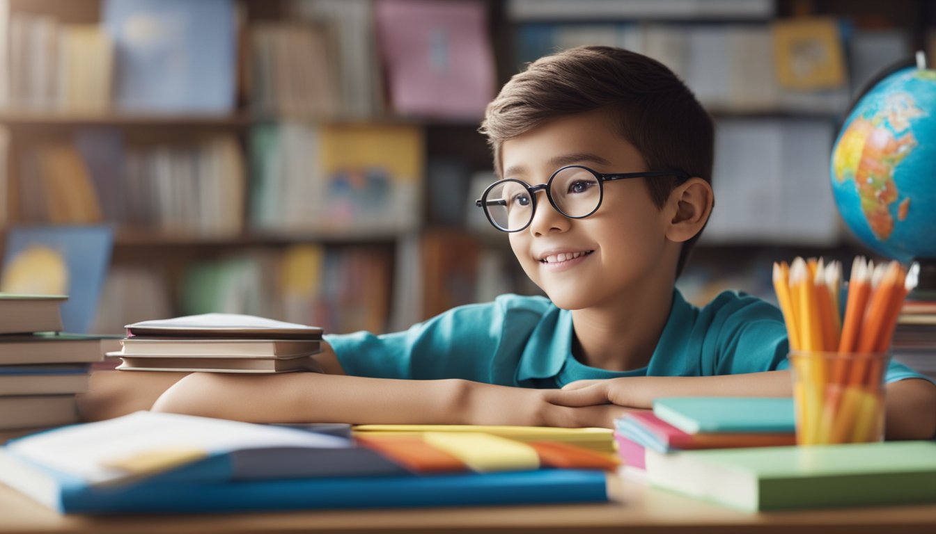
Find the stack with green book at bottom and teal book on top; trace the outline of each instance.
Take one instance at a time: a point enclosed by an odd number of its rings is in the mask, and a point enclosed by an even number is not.
[[[936,442],[782,445],[794,427],[791,398],[661,398],[616,439],[625,476],[746,512],[936,502]]]

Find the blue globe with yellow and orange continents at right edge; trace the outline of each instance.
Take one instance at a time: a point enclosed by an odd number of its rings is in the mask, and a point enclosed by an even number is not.
[[[832,191],[866,245],[936,257],[936,71],[899,70],[857,101],[832,149]]]

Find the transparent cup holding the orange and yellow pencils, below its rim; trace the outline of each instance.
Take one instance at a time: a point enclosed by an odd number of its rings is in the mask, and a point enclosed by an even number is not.
[[[797,444],[884,440],[890,354],[793,351]]]

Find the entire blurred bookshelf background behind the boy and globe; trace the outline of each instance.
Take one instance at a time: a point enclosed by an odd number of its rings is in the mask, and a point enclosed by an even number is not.
[[[66,328],[243,312],[404,328],[536,294],[474,208],[485,104],[578,45],[654,57],[717,124],[679,286],[772,299],[771,262],[863,248],[829,185],[856,94],[933,49],[928,1],[0,0],[0,291]]]

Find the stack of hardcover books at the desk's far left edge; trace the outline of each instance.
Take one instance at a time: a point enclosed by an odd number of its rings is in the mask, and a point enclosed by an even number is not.
[[[0,294],[0,430],[75,423],[101,339],[60,333],[66,296]]]

